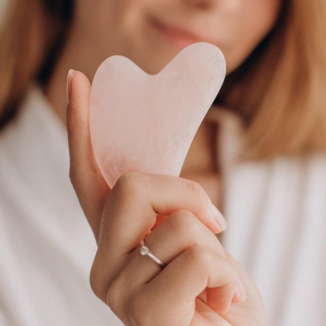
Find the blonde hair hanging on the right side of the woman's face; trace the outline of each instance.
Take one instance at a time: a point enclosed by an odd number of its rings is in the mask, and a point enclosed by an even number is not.
[[[326,152],[326,1],[291,0],[218,102],[245,125],[245,159]]]

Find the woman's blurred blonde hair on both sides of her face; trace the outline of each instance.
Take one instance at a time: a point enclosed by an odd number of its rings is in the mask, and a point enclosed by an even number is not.
[[[284,0],[283,6],[273,31],[226,78],[216,99],[242,116],[249,159],[326,149],[326,1]],[[46,82],[49,53],[58,40],[63,44],[71,12],[67,0],[11,6],[0,34],[0,126],[40,72]]]

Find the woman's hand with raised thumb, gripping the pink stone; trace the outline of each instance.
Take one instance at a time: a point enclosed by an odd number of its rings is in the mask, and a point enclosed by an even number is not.
[[[70,178],[98,242],[95,294],[126,325],[264,325],[258,290],[213,234],[220,227],[203,189],[181,178],[127,173],[110,192],[90,142],[90,84],[75,71],[68,89]],[[168,217],[145,244],[167,264],[163,270],[139,245],[157,214]]]

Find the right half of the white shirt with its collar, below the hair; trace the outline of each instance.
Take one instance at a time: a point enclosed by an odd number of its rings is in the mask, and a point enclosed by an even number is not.
[[[267,326],[326,325],[326,157],[241,163],[241,125],[217,115],[224,246],[257,284]]]

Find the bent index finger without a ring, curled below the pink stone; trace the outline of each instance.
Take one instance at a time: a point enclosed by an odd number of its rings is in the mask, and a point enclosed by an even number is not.
[[[213,233],[222,231],[211,200],[197,183],[170,175],[124,174],[105,203],[98,252],[103,248],[112,257],[130,253],[153,227],[156,215],[178,210],[190,211]]]

